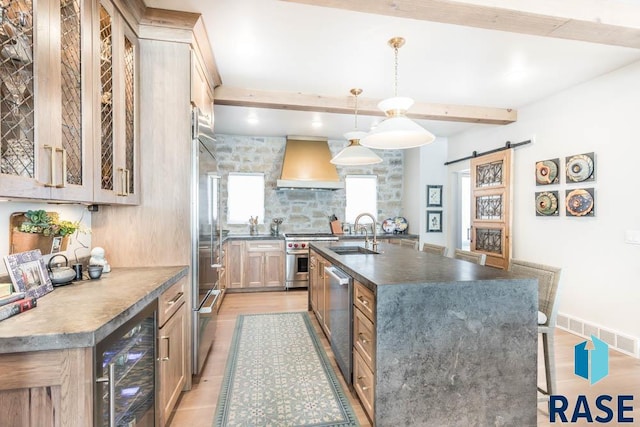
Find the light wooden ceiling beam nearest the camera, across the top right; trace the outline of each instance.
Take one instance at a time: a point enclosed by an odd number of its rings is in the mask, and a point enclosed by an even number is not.
[[[282,0],[355,12],[640,48],[640,5],[611,0]]]

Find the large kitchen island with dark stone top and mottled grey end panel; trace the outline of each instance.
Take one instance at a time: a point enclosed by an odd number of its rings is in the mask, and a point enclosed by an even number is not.
[[[353,243],[311,250],[354,279],[353,385],[375,425],[536,425],[535,279],[396,245],[337,246]]]

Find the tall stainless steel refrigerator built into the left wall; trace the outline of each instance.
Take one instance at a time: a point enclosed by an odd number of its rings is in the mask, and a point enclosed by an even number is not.
[[[192,111],[192,307],[193,373],[199,374],[215,335],[216,313],[222,302],[219,283],[222,268],[220,226],[220,176],[214,156],[211,118],[196,107]]]

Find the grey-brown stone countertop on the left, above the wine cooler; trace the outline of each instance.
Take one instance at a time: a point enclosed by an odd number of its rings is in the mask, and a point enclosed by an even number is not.
[[[98,280],[54,288],[0,322],[0,354],[92,347],[179,279],[188,267],[113,268]]]

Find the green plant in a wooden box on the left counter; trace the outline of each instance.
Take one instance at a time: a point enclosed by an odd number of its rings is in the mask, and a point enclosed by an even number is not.
[[[11,215],[12,233],[10,253],[40,249],[42,254],[67,249],[69,236],[76,231],[86,232],[80,221],[60,220],[57,212],[43,209],[17,212]]]

